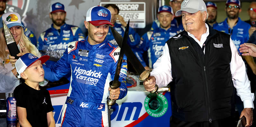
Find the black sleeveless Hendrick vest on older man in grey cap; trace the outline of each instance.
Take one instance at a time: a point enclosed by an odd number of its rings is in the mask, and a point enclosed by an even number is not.
[[[230,35],[209,26],[205,54],[183,30],[167,42],[172,63],[172,115],[182,121],[214,121],[231,116],[234,85]]]

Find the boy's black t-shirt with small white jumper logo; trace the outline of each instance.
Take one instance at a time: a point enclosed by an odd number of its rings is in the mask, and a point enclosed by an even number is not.
[[[36,90],[25,83],[14,89],[16,106],[26,108],[27,120],[33,127],[47,127],[47,113],[53,111],[47,89]]]

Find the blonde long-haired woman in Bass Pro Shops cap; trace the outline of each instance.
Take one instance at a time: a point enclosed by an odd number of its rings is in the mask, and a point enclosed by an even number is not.
[[[23,25],[21,24],[21,17],[18,13],[8,12],[4,13],[0,18],[0,31],[3,32],[2,20],[5,22],[7,27],[10,29],[15,42],[20,49],[18,56],[25,53],[32,53],[37,57],[41,57],[38,49],[31,43],[29,38],[24,34]],[[6,98],[8,93],[13,92],[16,86],[20,84],[20,80],[16,77],[16,68],[12,63],[14,60],[13,56],[9,55],[7,45],[4,39],[4,35],[0,34],[0,93],[5,93]]]

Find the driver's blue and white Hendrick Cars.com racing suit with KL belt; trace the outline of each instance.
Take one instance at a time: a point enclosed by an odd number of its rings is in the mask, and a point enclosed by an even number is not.
[[[85,40],[68,43],[63,56],[54,65],[43,65],[45,79],[59,80],[72,71],[71,83],[62,112],[62,126],[108,126],[107,97],[114,79],[120,48],[105,40],[90,45]],[[122,61],[119,81],[121,99],[127,94],[127,58]]]

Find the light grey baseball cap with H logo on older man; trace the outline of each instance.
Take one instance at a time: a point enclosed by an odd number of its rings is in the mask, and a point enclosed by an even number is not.
[[[207,12],[207,8],[203,0],[184,0],[181,3],[181,9],[177,11],[175,15],[181,15],[181,11],[186,11],[188,13],[196,13],[198,11]]]

